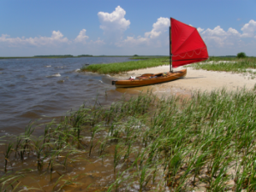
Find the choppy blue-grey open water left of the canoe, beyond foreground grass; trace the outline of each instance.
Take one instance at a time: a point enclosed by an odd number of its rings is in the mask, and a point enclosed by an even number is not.
[[[86,63],[123,61],[128,57],[0,60],[0,136],[17,135],[31,120],[49,121],[83,102],[92,105],[97,96],[110,104],[122,95],[111,78],[79,69]]]

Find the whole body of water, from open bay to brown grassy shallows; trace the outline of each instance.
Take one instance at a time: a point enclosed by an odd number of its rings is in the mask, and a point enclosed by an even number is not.
[[[151,90],[152,86],[130,89],[116,89],[111,85],[109,75],[96,73],[80,73],[79,69],[84,64],[109,63],[129,61],[128,57],[100,57],[100,58],[65,58],[65,59],[15,59],[0,60],[0,135],[12,136],[23,133],[25,127],[32,120],[36,124],[60,119],[69,110],[76,110],[85,102],[87,106],[110,105],[120,100],[122,95],[138,94],[140,91]],[[160,96],[164,93],[171,94],[175,90],[160,88],[155,89]],[[45,125],[37,126],[36,136],[43,135]],[[116,142],[110,142],[103,154],[99,154],[99,143],[108,134],[99,131],[93,142],[95,147],[90,150],[90,134],[83,136],[83,149],[78,153],[67,154],[63,152],[59,157],[54,157],[54,171],[51,173],[51,155],[45,155],[43,171],[38,171],[38,158],[35,151],[26,153],[24,160],[19,154],[13,152],[7,164],[10,174],[21,171],[25,177],[19,178],[22,189],[35,188],[44,191],[106,191],[110,184],[116,181],[118,174],[124,174],[125,182],[118,186],[118,191],[140,191],[139,176],[134,175],[136,167],[129,166],[134,161],[134,155],[141,145],[136,145],[134,154],[129,160],[120,160],[114,171],[114,154]],[[37,137],[33,137],[35,143]],[[8,142],[9,143],[9,142]],[[13,146],[15,148],[15,145]],[[48,148],[48,147],[47,147]],[[47,150],[47,148],[45,148]],[[23,148],[20,149],[22,151]],[[54,149],[52,149],[54,151]],[[5,146],[0,146],[0,151],[5,151]],[[63,167],[65,156],[68,165]],[[0,177],[5,176],[4,158],[0,161]],[[128,169],[128,170],[127,170]],[[144,190],[156,189],[158,182],[163,180],[161,173],[156,177],[156,182],[150,182]],[[66,183],[67,182],[67,183]],[[128,184],[129,183],[129,184]],[[164,183],[163,187],[164,187]],[[161,185],[162,185],[161,184]],[[167,190],[168,191],[168,190]]]

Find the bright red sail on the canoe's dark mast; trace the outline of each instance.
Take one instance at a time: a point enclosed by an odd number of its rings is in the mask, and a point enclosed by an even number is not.
[[[205,42],[193,26],[170,18],[172,66],[179,67],[208,59]]]

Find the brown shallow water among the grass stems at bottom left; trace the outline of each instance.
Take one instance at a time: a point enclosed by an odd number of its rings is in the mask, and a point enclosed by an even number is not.
[[[106,132],[101,131],[95,137],[94,144],[98,143]],[[90,145],[90,137],[85,137],[84,143],[87,146]],[[85,147],[85,146],[84,146]],[[41,172],[37,170],[37,156],[36,154],[26,154],[24,160],[19,160],[19,157],[15,158],[15,154],[12,154],[11,166],[8,164],[8,172],[15,174],[15,172],[22,173],[22,177],[18,178],[21,186],[17,189],[30,189],[33,191],[107,191],[112,183],[116,181],[116,178],[126,178],[120,185],[118,185],[117,191],[140,191],[138,175],[134,175],[137,171],[137,167],[130,167],[134,162],[134,154],[131,154],[128,161],[122,159],[116,166],[114,171],[114,153],[116,143],[110,143],[108,148],[103,154],[98,153],[99,146],[93,148],[92,154],[88,154],[88,148],[80,150],[77,154],[60,154],[59,158],[54,158],[54,171],[51,173],[51,169],[48,162],[50,156],[44,160],[44,168]],[[138,145],[136,148],[143,148]],[[63,161],[65,155],[68,156],[68,163],[63,167]],[[3,161],[0,162],[0,166],[4,167]],[[9,175],[9,174],[7,174]],[[1,170],[0,177],[4,177],[4,172]],[[163,180],[162,174],[155,178],[155,182],[150,181],[146,190],[154,191],[157,188],[159,181]],[[15,183],[16,184],[16,183]],[[162,183],[164,187],[164,183]],[[25,187],[24,187],[25,186]],[[114,188],[115,190],[115,188]],[[112,190],[111,190],[112,191]],[[169,190],[166,190],[169,191]]]

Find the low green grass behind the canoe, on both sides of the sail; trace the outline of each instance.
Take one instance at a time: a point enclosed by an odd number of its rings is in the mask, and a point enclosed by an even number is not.
[[[132,59],[140,59],[140,61],[129,61],[122,63],[97,64],[81,67],[81,71],[100,73],[100,74],[116,74],[125,73],[132,70],[143,69],[147,67],[158,67],[169,65],[169,57],[133,57]],[[256,75],[253,69],[256,69],[256,58],[247,57],[245,59],[237,59],[236,57],[210,57],[207,61],[194,63],[185,67],[193,67],[194,69],[204,69],[207,71],[231,72],[231,73],[251,73]]]

